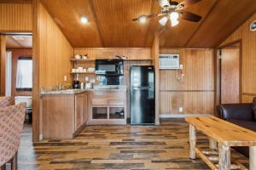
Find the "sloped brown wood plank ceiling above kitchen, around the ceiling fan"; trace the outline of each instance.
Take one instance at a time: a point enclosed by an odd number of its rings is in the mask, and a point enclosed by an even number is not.
[[[149,48],[158,19],[133,22],[140,14],[160,13],[157,0],[41,0],[74,48]],[[182,0],[177,0],[181,2]],[[198,23],[180,20],[160,34],[161,48],[212,48],[256,11],[255,0],[203,0],[186,10],[200,14]],[[82,25],[80,16],[90,22]]]

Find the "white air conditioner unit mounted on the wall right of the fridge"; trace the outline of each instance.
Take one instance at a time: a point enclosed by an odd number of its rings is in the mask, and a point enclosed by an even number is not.
[[[179,69],[179,54],[160,54],[160,69]]]

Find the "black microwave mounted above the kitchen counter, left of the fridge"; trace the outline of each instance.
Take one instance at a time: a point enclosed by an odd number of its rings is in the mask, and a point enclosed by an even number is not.
[[[96,75],[122,76],[123,74],[123,59],[96,59]]]

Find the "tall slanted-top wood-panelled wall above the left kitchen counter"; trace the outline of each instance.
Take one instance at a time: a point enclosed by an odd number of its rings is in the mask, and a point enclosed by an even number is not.
[[[64,76],[71,82],[69,59],[73,56],[73,47],[41,3],[38,8],[38,41],[40,87],[66,83]]]

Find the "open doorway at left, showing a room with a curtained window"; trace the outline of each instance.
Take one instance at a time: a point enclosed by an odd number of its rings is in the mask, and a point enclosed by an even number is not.
[[[26,122],[32,123],[32,34],[4,33],[1,37],[1,94],[13,96],[15,104],[26,102]]]

